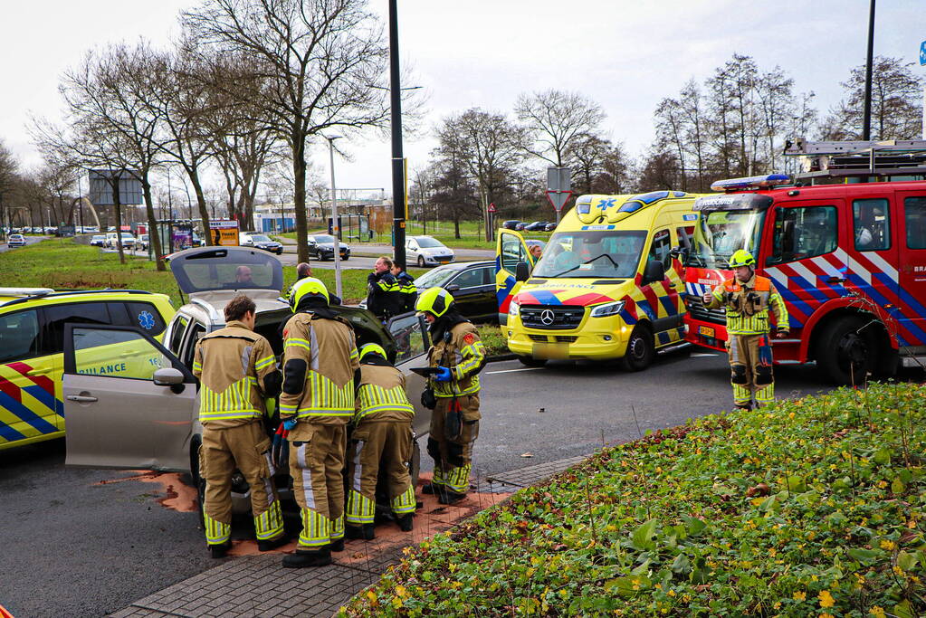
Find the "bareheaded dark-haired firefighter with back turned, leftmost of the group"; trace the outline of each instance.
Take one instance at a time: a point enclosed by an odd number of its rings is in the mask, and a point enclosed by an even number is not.
[[[265,397],[280,393],[282,376],[269,341],[254,332],[255,303],[244,294],[225,305],[225,328],[196,344],[193,373],[200,379],[203,443],[199,474],[206,479],[203,518],[213,558],[232,547],[232,473],[251,486],[257,548],[286,542],[280,500],[273,485],[270,440],[262,419]]]

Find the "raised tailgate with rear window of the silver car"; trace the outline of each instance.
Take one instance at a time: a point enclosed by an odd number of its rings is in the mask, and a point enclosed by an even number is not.
[[[250,247],[195,247],[173,253],[170,270],[185,294],[267,290],[279,295],[283,287],[280,260]],[[250,271],[250,280],[244,275]],[[263,294],[261,294],[263,296]]]

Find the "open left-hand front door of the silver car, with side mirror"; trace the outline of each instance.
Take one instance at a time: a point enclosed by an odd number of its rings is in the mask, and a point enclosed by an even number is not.
[[[131,327],[68,324],[64,338],[68,465],[185,472],[197,410],[193,374]],[[183,383],[159,386],[157,369]]]

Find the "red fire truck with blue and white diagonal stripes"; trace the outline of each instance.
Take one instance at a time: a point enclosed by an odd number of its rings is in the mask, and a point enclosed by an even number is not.
[[[701,296],[732,278],[738,249],[782,294],[791,335],[775,363],[816,362],[834,383],[926,360],[926,141],[789,142],[802,171],[720,180],[694,203],[685,339],[724,350],[722,309]]]

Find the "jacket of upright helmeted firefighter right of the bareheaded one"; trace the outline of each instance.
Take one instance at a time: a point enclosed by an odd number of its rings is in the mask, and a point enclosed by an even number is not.
[[[346,425],[354,414],[354,330],[340,317],[293,315],[283,329],[280,417]],[[290,433],[291,439],[299,439]]]

